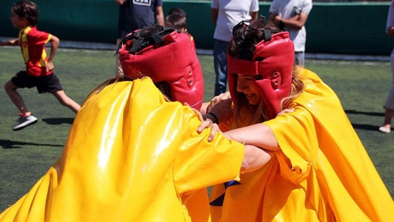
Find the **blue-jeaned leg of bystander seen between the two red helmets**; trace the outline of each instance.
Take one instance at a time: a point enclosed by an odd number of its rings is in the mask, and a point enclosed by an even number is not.
[[[229,42],[215,39],[213,63],[215,66],[215,96],[227,90],[227,46]]]

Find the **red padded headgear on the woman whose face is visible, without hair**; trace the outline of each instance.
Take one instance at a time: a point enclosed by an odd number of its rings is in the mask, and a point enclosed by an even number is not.
[[[258,58],[260,61],[255,61]],[[279,113],[279,102],[288,96],[294,63],[294,45],[290,33],[279,32],[271,39],[263,39],[255,45],[253,61],[242,60],[227,55],[229,90],[234,103],[238,99],[235,73],[253,75],[260,95],[272,119]]]

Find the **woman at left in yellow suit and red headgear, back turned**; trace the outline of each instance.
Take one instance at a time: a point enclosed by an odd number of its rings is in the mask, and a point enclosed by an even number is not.
[[[197,132],[184,103],[200,109],[203,75],[186,34],[144,27],[118,53],[125,76],[89,94],[61,157],[0,221],[209,221],[206,187],[269,159],[210,121]]]

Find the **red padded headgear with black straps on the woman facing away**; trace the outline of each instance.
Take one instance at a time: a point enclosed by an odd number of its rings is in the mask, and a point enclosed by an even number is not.
[[[156,43],[141,51],[133,49],[131,40],[124,42],[118,51],[123,73],[135,78],[137,72],[147,75],[155,83],[167,82],[171,93],[167,96],[172,101],[180,101],[182,104],[187,102],[199,110],[204,97],[203,73],[190,37],[174,29],[163,29],[170,30],[169,34],[163,39],[153,35],[151,39]],[[135,34],[139,31],[129,33],[125,39],[132,39],[131,35],[134,35],[134,39],[143,39],[136,37]],[[137,43],[138,40],[134,44]]]

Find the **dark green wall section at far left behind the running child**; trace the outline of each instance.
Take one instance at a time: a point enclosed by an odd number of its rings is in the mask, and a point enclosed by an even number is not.
[[[32,0],[39,7],[38,29],[62,40],[116,43],[114,0]],[[18,37],[9,16],[14,1],[0,0],[0,36]]]

